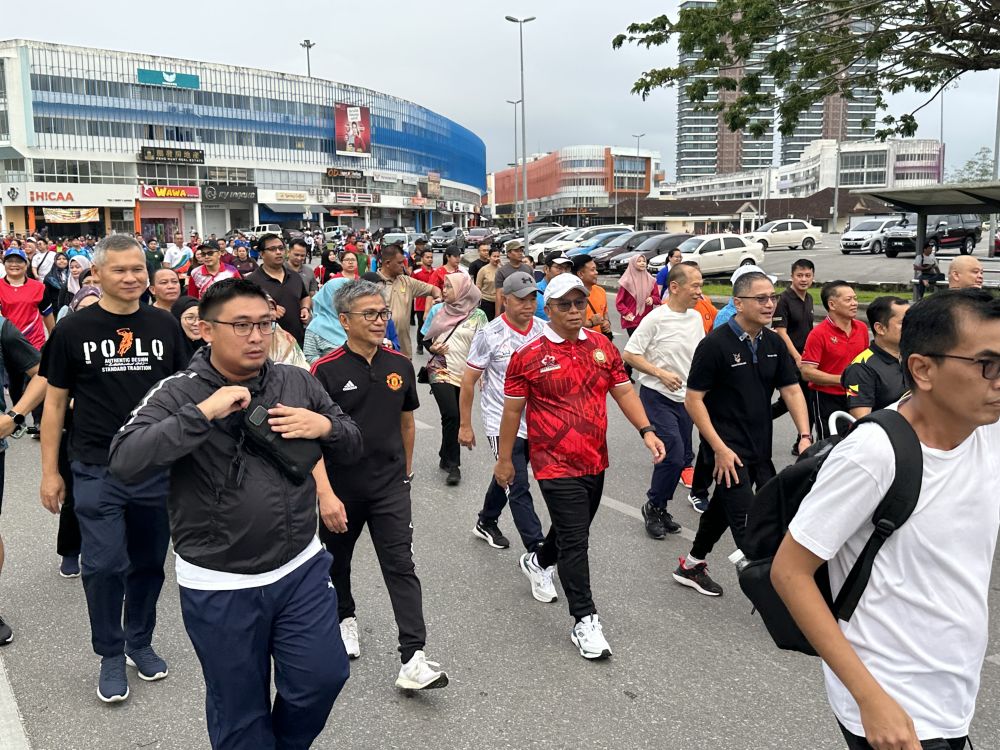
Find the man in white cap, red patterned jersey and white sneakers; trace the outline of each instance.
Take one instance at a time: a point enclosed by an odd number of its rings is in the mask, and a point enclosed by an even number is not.
[[[514,481],[512,452],[527,406],[530,461],[549,509],[552,526],[535,552],[521,556],[521,571],[538,601],[555,601],[552,572],[559,565],[570,614],[570,639],[586,659],[611,655],[590,592],[587,550],[608,468],[607,394],[659,463],[666,455],[650,426],[621,355],[606,336],[583,329],[587,289],[573,274],[554,277],[545,288],[549,323],[542,335],[510,359],[504,384],[497,484]]]

